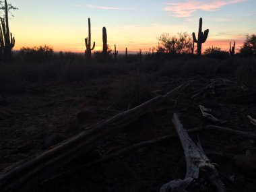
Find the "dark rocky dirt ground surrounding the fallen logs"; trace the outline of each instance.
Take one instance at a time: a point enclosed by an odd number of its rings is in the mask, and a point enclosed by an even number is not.
[[[108,75],[69,84],[44,82],[29,84],[24,92],[1,94],[0,170],[127,110],[131,106],[122,106],[117,98],[123,82],[132,78]],[[84,154],[60,172],[135,143],[176,135],[173,113],[179,115],[185,129],[212,124],[202,117],[199,105],[211,108],[212,115],[226,121],[224,127],[256,133],[256,127],[247,119],[247,115],[256,118],[256,94],[236,84],[232,77],[216,77],[218,82],[226,79],[232,82],[195,98],[189,93],[210,84],[210,76],[181,78],[148,74],[145,78],[150,82],[152,97],[166,94],[187,80],[195,81],[174,94],[172,100],[143,115],[125,131],[104,139],[93,152]],[[255,141],[210,129],[189,135],[194,141],[198,137],[207,157],[218,164],[220,178],[228,191],[256,191]],[[183,179],[185,171],[185,156],[177,137],[137,148],[66,177],[50,179],[38,186],[37,191],[159,191],[164,183]]]

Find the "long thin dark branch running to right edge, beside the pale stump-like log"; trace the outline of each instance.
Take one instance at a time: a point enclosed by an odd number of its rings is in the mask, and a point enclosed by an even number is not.
[[[234,129],[230,129],[230,128],[226,128],[226,127],[220,127],[220,126],[216,126],[216,125],[207,125],[205,127],[207,129],[212,129],[214,131],[222,131],[225,133],[230,133],[232,135],[236,135],[239,137],[245,137],[247,139],[253,139],[256,141],[256,135],[253,133],[247,133],[245,131],[238,131],[238,130],[234,130]]]

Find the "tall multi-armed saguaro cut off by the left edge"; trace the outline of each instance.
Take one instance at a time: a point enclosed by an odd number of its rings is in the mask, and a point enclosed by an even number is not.
[[[5,0],[5,19],[1,19],[0,25],[0,59],[5,63],[11,62],[11,50],[15,45],[15,38],[9,32],[8,5]]]

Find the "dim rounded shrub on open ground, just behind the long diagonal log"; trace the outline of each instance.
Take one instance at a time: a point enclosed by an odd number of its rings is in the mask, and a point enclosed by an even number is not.
[[[115,106],[120,108],[133,108],[152,98],[150,82],[146,77],[133,75],[128,77],[118,86],[114,96]]]

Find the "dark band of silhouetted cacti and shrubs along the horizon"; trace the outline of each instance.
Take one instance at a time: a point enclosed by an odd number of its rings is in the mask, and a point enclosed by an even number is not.
[[[0,3],[3,2],[0,1]],[[88,18],[88,36],[85,38],[84,54],[62,51],[55,53],[53,47],[47,45],[23,47],[13,54],[11,50],[15,45],[15,39],[9,32],[7,18],[8,10],[16,8],[7,5],[5,1],[2,9],[5,12],[5,20],[1,19],[0,28],[0,92],[22,91],[23,85],[28,82],[55,79],[67,83],[100,75],[129,73],[156,73],[162,76],[181,75],[183,77],[193,75],[214,77],[217,74],[232,74],[238,77],[241,84],[249,86],[256,82],[254,59],[256,35],[247,35],[241,49],[236,49],[235,42],[227,42],[230,45],[229,51],[212,46],[205,49],[201,55],[202,44],[209,34],[208,29],[202,31],[201,18],[197,36],[195,33],[187,32],[179,32],[177,36],[163,33],[158,37],[158,45],[149,47],[146,54],[143,54],[141,49],[136,54],[131,54],[126,48],[125,54],[121,55],[118,42],[113,45],[112,51],[107,42],[106,28],[103,27],[102,51],[94,51],[92,55],[96,42],[92,42],[90,18]],[[123,93],[125,98],[125,92]],[[148,98],[148,94],[145,97]],[[134,100],[134,103],[136,102],[137,100]]]

